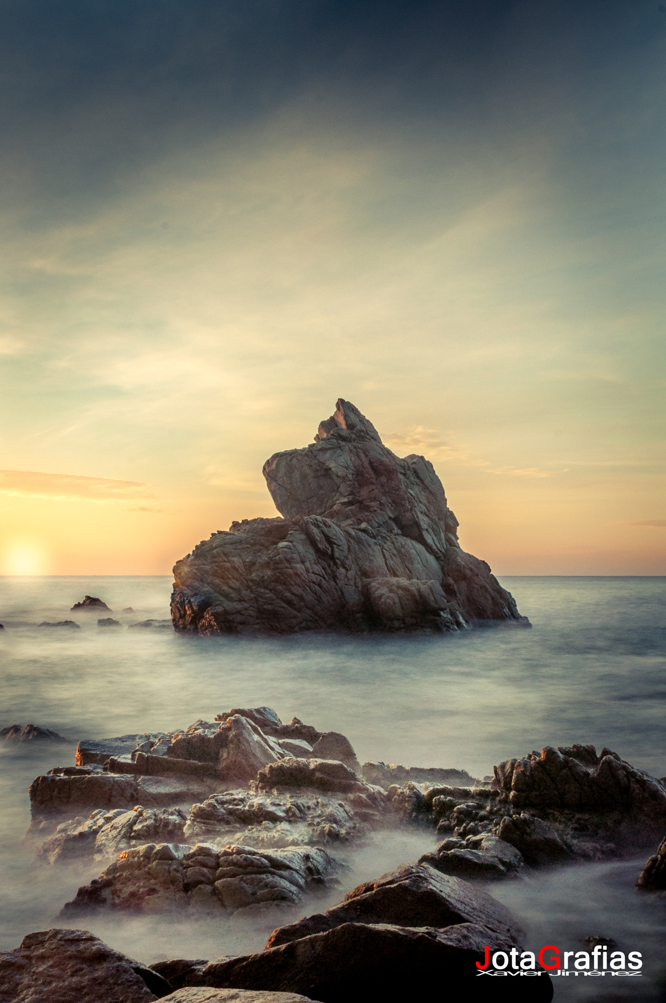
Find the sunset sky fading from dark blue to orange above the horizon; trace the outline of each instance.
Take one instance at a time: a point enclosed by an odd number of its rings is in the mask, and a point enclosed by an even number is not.
[[[338,397],[497,575],[666,574],[666,5],[0,28],[0,574],[170,574]]]

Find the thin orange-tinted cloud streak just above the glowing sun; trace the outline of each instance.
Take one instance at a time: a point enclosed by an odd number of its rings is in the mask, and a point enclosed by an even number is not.
[[[136,480],[36,470],[0,470],[0,493],[84,501],[134,501],[154,497],[146,484]]]

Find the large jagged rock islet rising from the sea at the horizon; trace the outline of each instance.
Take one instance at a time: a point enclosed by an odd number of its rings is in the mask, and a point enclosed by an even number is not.
[[[348,401],[338,400],[314,443],[271,456],[264,476],[283,518],[233,523],[178,562],[177,630],[528,624],[485,562],[460,549],[432,464],[400,459]]]

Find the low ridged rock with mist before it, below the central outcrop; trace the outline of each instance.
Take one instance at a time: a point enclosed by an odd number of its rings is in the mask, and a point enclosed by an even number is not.
[[[252,847],[146,844],[121,853],[99,878],[79,888],[62,916],[90,909],[164,913],[184,908],[239,909],[299,903],[306,892],[335,887],[335,861],[321,849],[273,853]]]

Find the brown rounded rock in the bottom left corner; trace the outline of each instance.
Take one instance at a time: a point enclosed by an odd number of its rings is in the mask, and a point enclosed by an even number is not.
[[[172,986],[84,930],[28,934],[0,954],[3,1003],[152,1003]]]

